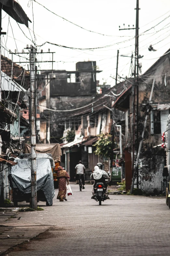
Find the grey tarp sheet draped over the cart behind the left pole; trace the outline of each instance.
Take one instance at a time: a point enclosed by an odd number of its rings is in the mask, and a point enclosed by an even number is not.
[[[17,164],[12,166],[8,175],[10,186],[18,188],[23,193],[31,193],[31,161],[29,159],[15,159],[15,162]],[[36,165],[37,191],[42,189],[49,205],[52,205],[55,190],[50,161],[45,158],[37,158]]]

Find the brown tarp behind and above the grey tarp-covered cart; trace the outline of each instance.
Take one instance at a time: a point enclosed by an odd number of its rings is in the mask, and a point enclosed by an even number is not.
[[[30,153],[31,146],[25,143],[25,152]],[[36,144],[36,153],[50,153],[52,158],[56,161],[61,161],[62,151],[59,143],[50,143],[50,144]]]

